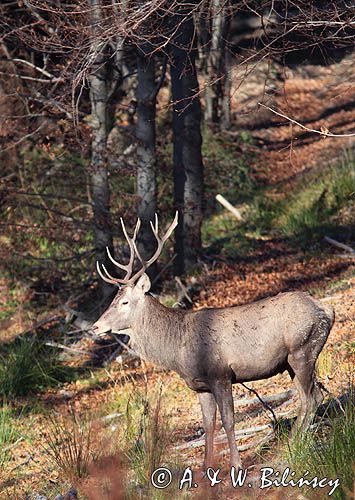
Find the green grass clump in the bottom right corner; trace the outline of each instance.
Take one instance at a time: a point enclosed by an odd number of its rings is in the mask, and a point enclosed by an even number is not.
[[[329,426],[327,428],[322,425],[295,436],[289,444],[287,458],[292,469],[300,476],[308,470],[310,478],[314,476],[339,478],[340,485],[332,494],[332,498],[350,498],[354,480],[355,457],[353,403],[350,402],[344,411],[338,410],[337,416],[332,418],[327,425]],[[320,492],[317,491],[317,498],[319,495]],[[323,495],[327,497],[327,492],[324,492]]]

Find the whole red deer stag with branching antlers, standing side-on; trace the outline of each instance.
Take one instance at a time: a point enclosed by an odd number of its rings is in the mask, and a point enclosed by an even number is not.
[[[110,276],[97,263],[101,278],[124,285],[110,307],[93,325],[103,334],[130,329],[130,339],[142,358],[177,372],[198,393],[205,428],[204,467],[212,464],[216,409],[228,438],[231,465],[241,461],[234,435],[232,384],[272,377],[285,370],[294,380],[301,400],[297,428],[306,428],[323,397],[315,379],[315,363],[334,322],[334,312],[308,293],[279,293],[242,306],[199,311],[176,310],[152,297],[146,269],[157,260],[163,245],[178,224],[177,214],[162,238],[158,218],[151,223],[157,239],[154,255],[144,261],[133,237],[122,229],[130,247],[127,265],[110,260],[126,271],[123,279]],[[141,269],[133,276],[137,258]]]

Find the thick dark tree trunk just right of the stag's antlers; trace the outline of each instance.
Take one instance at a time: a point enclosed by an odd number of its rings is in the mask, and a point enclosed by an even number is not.
[[[196,40],[192,15],[185,11],[170,45],[173,98],[174,204],[180,224],[175,231],[175,273],[189,271],[201,252],[203,163],[201,107],[196,74]]]

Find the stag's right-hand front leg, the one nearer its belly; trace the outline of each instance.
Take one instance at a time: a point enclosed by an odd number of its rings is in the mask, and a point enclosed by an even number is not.
[[[242,462],[240,460],[234,434],[234,403],[231,382],[229,380],[217,381],[213,387],[213,394],[216,398],[221,413],[222,424],[227,434],[231,467],[235,467],[237,470],[241,469]]]

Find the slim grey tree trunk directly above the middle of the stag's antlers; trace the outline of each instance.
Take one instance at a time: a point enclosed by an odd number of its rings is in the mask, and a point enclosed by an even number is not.
[[[138,83],[137,99],[137,195],[139,196],[138,217],[142,221],[138,246],[143,258],[148,259],[156,249],[156,239],[149,221],[154,220],[157,209],[156,193],[156,151],[155,112],[156,84],[155,60],[151,48],[140,45],[137,53]],[[156,264],[148,269],[150,278],[156,275]]]

